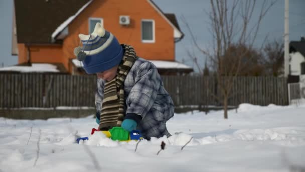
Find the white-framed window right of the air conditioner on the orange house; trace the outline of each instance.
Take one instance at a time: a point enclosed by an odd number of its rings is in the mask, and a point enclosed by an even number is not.
[[[142,20],[141,23],[141,39],[144,43],[155,42],[155,21]]]

